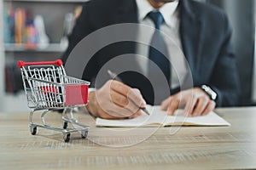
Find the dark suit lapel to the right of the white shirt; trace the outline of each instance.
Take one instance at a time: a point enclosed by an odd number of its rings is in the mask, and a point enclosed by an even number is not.
[[[186,59],[188,59],[192,75],[195,75],[201,64],[201,15],[193,11],[188,0],[181,0],[180,3],[180,35],[183,53]]]

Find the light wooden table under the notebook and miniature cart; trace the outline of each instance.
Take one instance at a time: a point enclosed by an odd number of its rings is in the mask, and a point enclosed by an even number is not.
[[[256,107],[216,112],[231,127],[181,127],[172,135],[171,127],[140,127],[132,133],[128,128],[95,127],[89,116],[79,114],[79,120],[90,124],[89,139],[72,133],[70,143],[48,129],[38,128],[31,135],[28,113],[0,113],[0,168],[256,168]],[[60,114],[50,113],[48,120],[61,125]]]

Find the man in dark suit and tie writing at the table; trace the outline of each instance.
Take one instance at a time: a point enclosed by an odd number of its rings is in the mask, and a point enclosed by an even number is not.
[[[152,11],[160,14],[160,26],[156,26],[156,22],[148,17]],[[68,37],[69,47],[62,56],[64,63],[68,57],[72,57],[69,54],[84,37],[105,26],[120,23],[154,26],[174,37],[177,47],[183,49],[194,84],[191,88],[181,89],[175,85],[177,75],[174,71],[169,73],[172,79],[171,96],[160,103],[169,115],[180,105],[185,115],[201,116],[212,111],[216,105],[237,104],[239,81],[227,17],[218,8],[193,0],[91,0],[84,3],[73,33]],[[166,50],[172,53],[168,44]],[[147,51],[143,55],[151,53],[150,47],[140,47],[136,42],[116,42],[102,48],[86,65],[83,79],[94,82],[97,73],[110,59],[138,51]],[[144,64],[139,65],[142,67]],[[154,104],[154,93],[147,77],[132,71],[126,71],[119,77],[125,83],[108,81],[90,92],[87,109],[93,116],[131,118],[141,115],[143,111],[139,108],[146,103]]]

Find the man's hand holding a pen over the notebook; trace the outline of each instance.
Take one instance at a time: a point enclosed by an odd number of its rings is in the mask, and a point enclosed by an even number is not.
[[[105,119],[124,119],[141,116],[146,102],[137,88],[110,80],[102,88],[89,94],[88,111]]]

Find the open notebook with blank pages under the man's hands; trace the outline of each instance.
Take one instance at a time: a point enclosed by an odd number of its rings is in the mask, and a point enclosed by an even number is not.
[[[207,116],[184,117],[182,110],[177,110],[175,116],[166,116],[166,111],[161,111],[160,106],[146,106],[150,116],[144,114],[133,119],[107,120],[96,118],[96,126],[100,127],[154,127],[154,126],[230,126],[222,117],[215,112]]]

